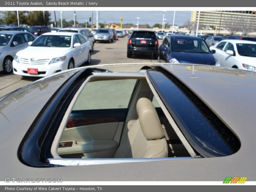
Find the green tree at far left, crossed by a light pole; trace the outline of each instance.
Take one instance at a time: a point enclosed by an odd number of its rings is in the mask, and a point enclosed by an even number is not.
[[[27,11],[19,11],[20,24],[27,24]],[[5,24],[18,24],[17,11],[4,12],[3,21]]]

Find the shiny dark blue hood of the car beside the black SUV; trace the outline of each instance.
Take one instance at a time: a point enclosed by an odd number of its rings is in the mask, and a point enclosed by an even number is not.
[[[172,52],[172,58],[177,59],[180,63],[215,65],[215,58],[211,53],[188,53]]]

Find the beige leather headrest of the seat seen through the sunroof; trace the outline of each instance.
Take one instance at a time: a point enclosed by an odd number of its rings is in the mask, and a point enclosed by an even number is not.
[[[140,98],[136,108],[141,129],[147,140],[163,138],[162,126],[152,102],[147,98]]]

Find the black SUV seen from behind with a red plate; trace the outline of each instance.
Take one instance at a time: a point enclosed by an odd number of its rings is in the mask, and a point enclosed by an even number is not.
[[[147,54],[158,58],[158,40],[154,31],[133,31],[127,44],[127,57]]]

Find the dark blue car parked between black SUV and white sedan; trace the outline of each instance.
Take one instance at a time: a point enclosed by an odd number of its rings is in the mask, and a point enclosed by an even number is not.
[[[213,53],[200,37],[172,35],[159,47],[158,62],[216,65]]]

